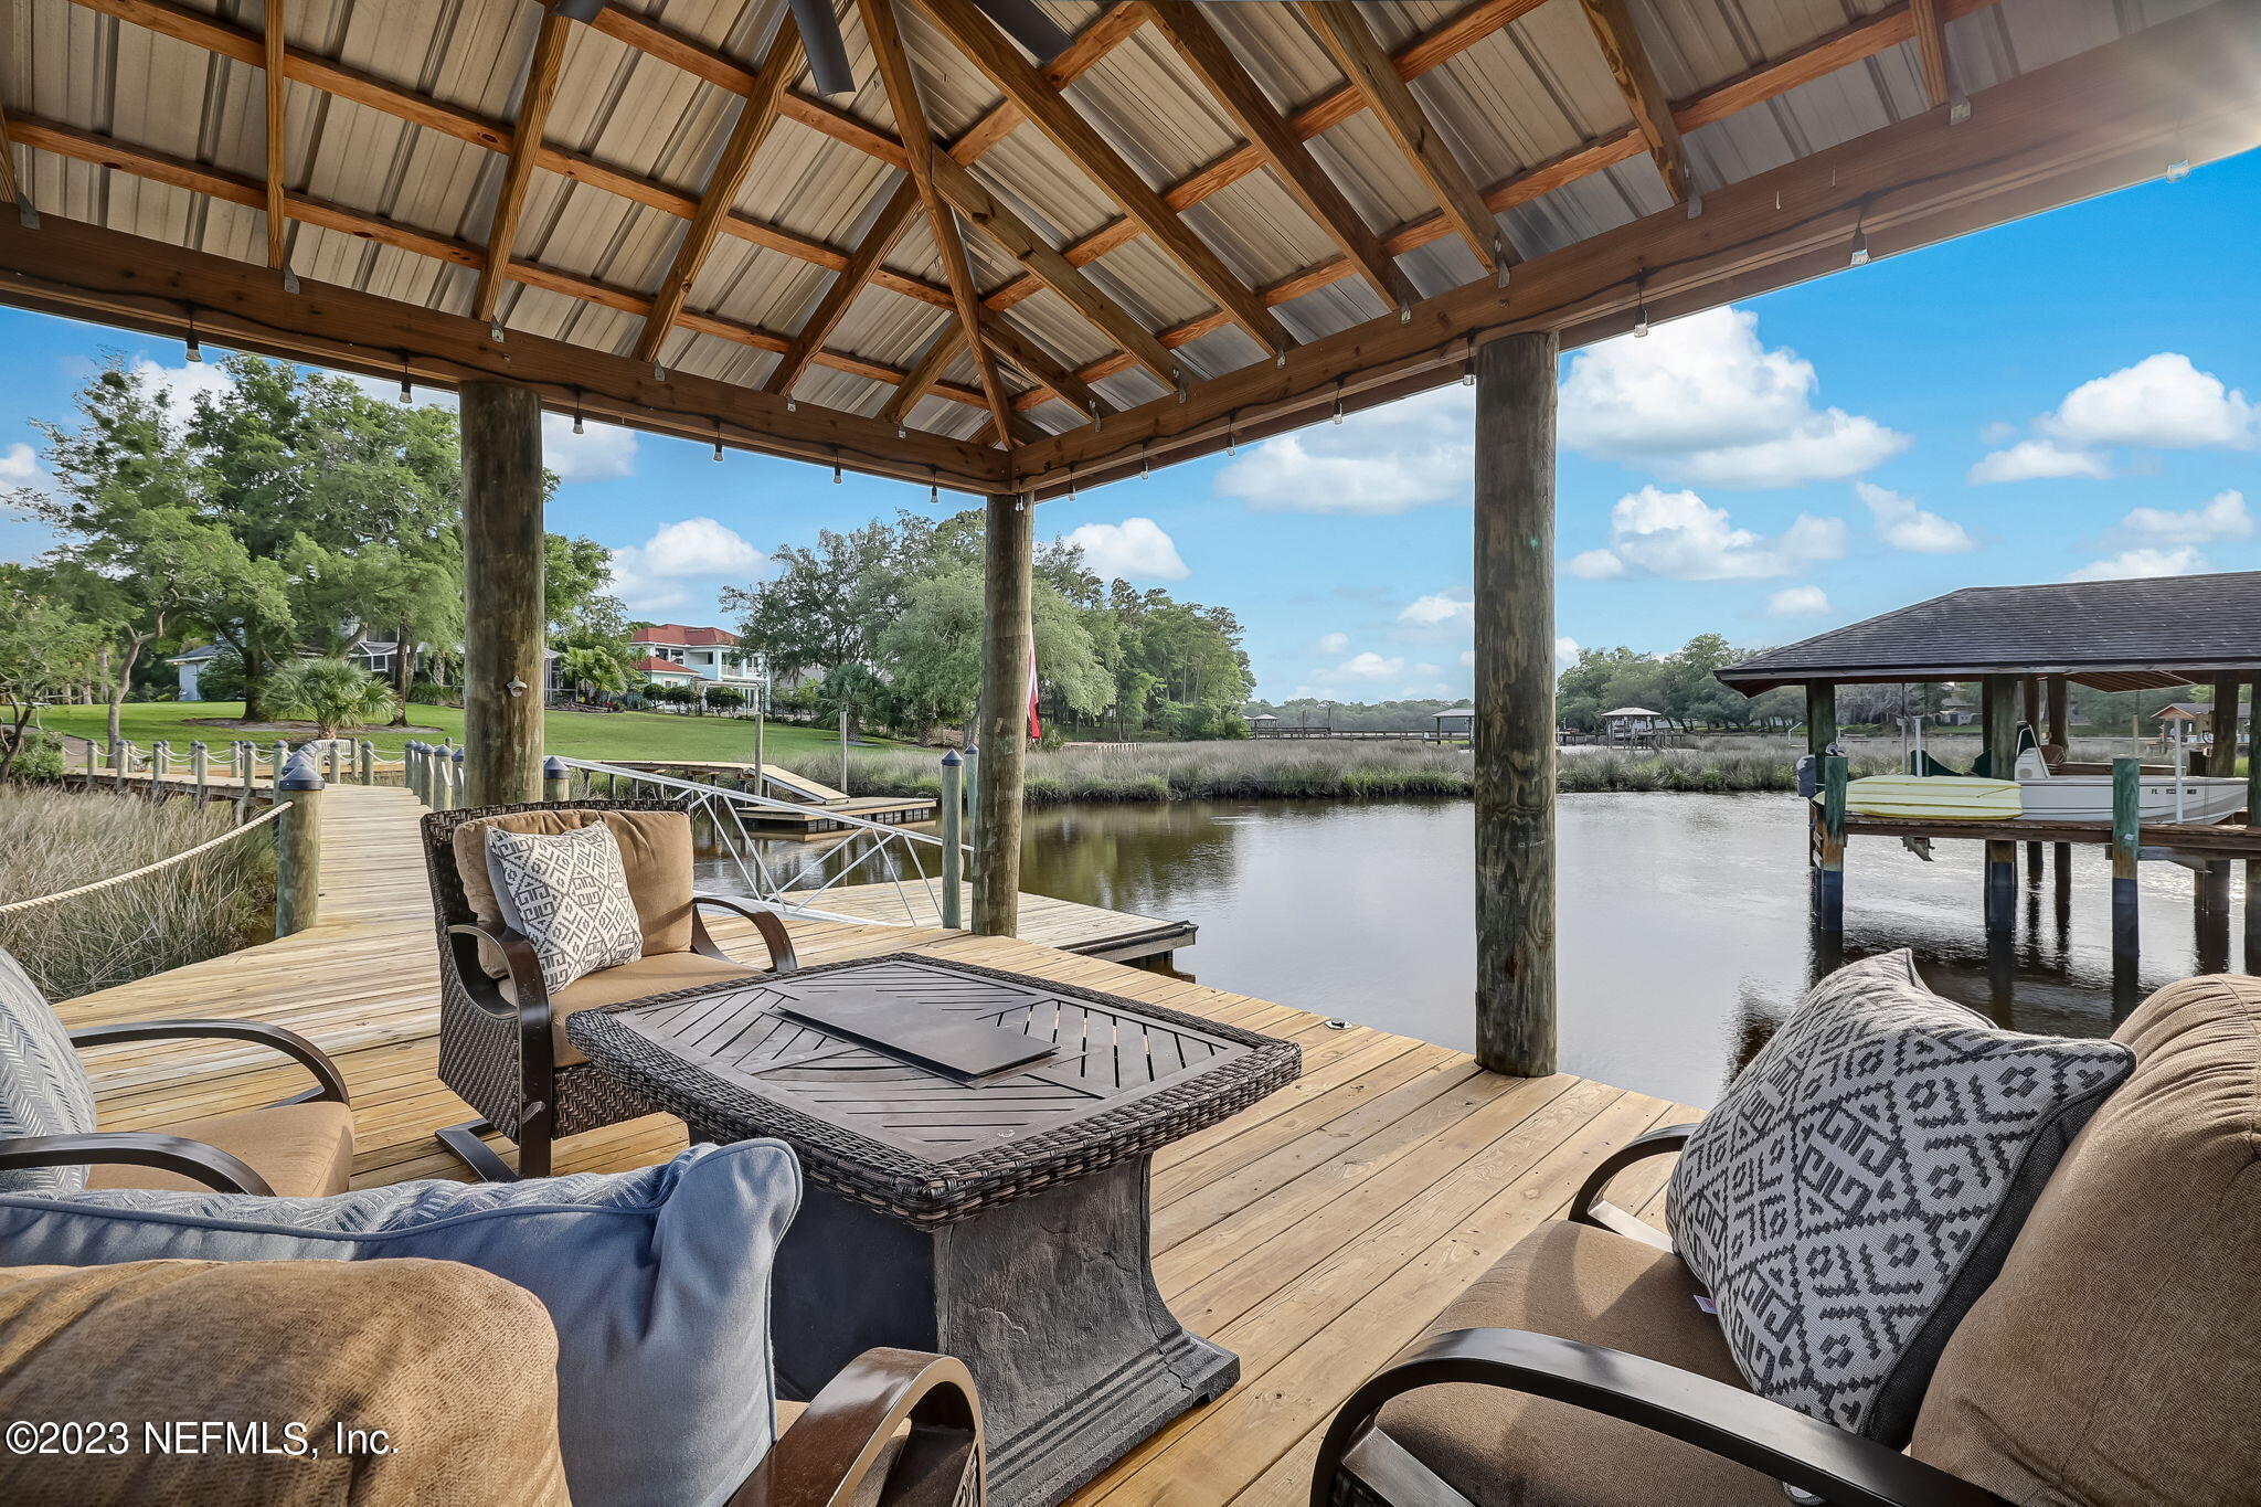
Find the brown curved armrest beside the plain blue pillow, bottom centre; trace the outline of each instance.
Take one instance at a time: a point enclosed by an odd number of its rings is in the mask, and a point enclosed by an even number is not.
[[[889,1464],[889,1439],[909,1423]],[[728,1507],[828,1507],[861,1500],[884,1471],[882,1507],[981,1507],[981,1396],[963,1360],[868,1349],[841,1369]]]

